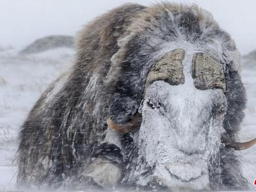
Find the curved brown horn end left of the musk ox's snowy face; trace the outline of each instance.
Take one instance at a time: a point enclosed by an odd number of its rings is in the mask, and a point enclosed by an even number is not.
[[[136,131],[141,124],[141,114],[136,113],[134,118],[130,122],[127,122],[126,124],[115,124],[111,118],[107,119],[107,124],[109,129],[112,131],[118,132],[118,133],[129,133],[132,131]]]

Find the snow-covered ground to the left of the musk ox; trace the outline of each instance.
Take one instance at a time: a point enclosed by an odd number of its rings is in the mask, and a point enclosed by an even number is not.
[[[15,49],[0,49],[0,191],[14,189],[15,153],[20,124],[40,94],[74,58],[74,51],[54,49],[22,56]]]

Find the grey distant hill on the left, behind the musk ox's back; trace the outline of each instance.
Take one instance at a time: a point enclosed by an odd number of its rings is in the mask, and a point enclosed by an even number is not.
[[[57,47],[74,48],[74,37],[67,35],[51,35],[38,38],[32,44],[20,51],[21,54],[32,54],[37,52],[55,49]]]

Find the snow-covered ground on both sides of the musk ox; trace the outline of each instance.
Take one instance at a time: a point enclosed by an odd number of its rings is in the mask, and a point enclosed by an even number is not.
[[[22,56],[12,47],[0,47],[0,191],[15,190],[17,167],[13,159],[20,124],[49,83],[73,60],[74,51],[66,48]],[[248,108],[240,139],[247,141],[256,137],[256,69],[244,68],[242,76],[248,94]],[[244,175],[254,190],[255,149],[239,152],[243,158]]]

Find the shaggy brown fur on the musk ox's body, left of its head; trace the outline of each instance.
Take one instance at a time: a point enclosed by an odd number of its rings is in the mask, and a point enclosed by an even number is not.
[[[43,93],[22,125],[19,184],[54,183],[62,179],[62,173],[73,175],[79,166],[76,158],[86,159],[104,138],[106,109],[111,97],[106,95],[104,79],[111,57],[118,51],[117,38],[124,33],[124,24],[129,24],[132,16],[141,9],[143,6],[126,4],[93,20],[80,32],[76,65],[65,79],[65,88],[47,102],[56,84],[64,81],[62,76]],[[99,76],[95,90],[100,92],[100,97],[81,91],[88,89],[93,74]],[[100,104],[97,113],[93,113],[95,104]],[[72,145],[83,152],[72,154]],[[47,172],[42,166],[45,158],[55,165]]]

